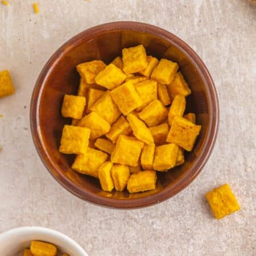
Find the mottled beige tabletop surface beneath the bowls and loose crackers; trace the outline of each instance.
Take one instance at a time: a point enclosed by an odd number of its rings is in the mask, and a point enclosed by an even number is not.
[[[255,255],[256,9],[246,0],[9,0],[0,5],[0,70],[16,94],[0,100],[0,232],[40,225],[89,255]],[[220,130],[201,175],[154,207],[112,210],[77,199],[46,171],[29,127],[36,77],[71,36],[96,24],[137,20],[185,40],[203,59],[220,100]],[[241,204],[220,221],[204,193],[228,182]]]

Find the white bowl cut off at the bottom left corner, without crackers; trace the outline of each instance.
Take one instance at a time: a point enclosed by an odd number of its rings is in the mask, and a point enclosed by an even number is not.
[[[20,250],[29,247],[32,240],[53,243],[71,256],[88,256],[82,247],[68,236],[38,226],[11,229],[0,234],[0,255],[14,256]]]

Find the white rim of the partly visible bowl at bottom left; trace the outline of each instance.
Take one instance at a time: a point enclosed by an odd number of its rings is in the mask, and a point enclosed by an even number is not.
[[[85,250],[82,249],[82,247],[77,242],[75,242],[72,238],[68,237],[67,235],[65,235],[57,230],[44,228],[41,226],[23,226],[23,227],[7,230],[6,232],[3,232],[0,234],[0,243],[5,241],[9,237],[11,238],[14,234],[15,235],[18,235],[18,234],[24,235],[24,234],[34,234],[36,232],[39,232],[42,234],[49,234],[49,236],[53,236],[53,237],[59,237],[61,240],[63,240],[63,242],[65,242],[69,246],[72,246],[73,248],[75,248],[78,251],[79,256],[80,255],[88,256],[88,254],[85,252]]]

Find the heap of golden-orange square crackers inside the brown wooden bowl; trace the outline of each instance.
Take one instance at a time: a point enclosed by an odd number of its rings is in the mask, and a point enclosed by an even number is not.
[[[201,126],[184,115],[191,90],[177,63],[147,56],[142,45],[122,50],[106,65],[77,65],[77,96],[65,95],[60,152],[76,154],[73,170],[100,179],[104,191],[155,188],[156,171],[184,163]]]

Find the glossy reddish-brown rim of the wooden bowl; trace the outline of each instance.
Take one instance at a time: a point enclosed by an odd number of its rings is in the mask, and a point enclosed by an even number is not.
[[[65,55],[68,51],[75,48],[82,42],[90,40],[97,35],[106,34],[113,31],[137,31],[137,32],[146,32],[148,34],[156,35],[164,40],[171,42],[175,47],[179,48],[185,55],[188,56],[189,60],[195,65],[197,72],[200,73],[200,76],[203,79],[205,84],[205,90],[207,91],[208,105],[209,105],[209,127],[206,138],[204,139],[203,148],[200,154],[197,156],[193,166],[174,184],[167,186],[162,191],[155,193],[154,195],[149,195],[146,197],[138,199],[113,199],[109,197],[102,197],[93,193],[89,190],[86,190],[79,185],[73,183],[72,180],[68,179],[55,163],[51,160],[51,156],[47,154],[46,148],[44,147],[42,132],[39,126],[39,106],[42,96],[42,90],[44,88],[45,81],[51,73],[52,69],[55,67],[57,62]],[[218,106],[218,96],[214,82],[210,73],[205,67],[205,64],[196,54],[191,47],[188,46],[183,40],[168,32],[162,28],[145,24],[139,22],[111,22],[101,24],[88,30],[77,34],[68,42],[64,43],[57,51],[51,56],[48,60],[42,72],[40,73],[38,80],[36,81],[30,104],[30,128],[32,139],[34,141],[36,151],[38,152],[40,159],[46,166],[49,173],[69,192],[73,195],[80,197],[83,200],[89,201],[90,203],[101,205],[104,207],[111,208],[121,208],[121,209],[133,209],[133,208],[142,208],[147,207],[156,203],[160,203],[164,200],[169,199],[170,197],[176,195],[182,189],[187,187],[201,172],[205,163],[209,159],[209,156],[213,150],[214,144],[216,142],[217,133],[218,133],[218,123],[219,123],[219,106]],[[57,175],[56,175],[57,174]]]

